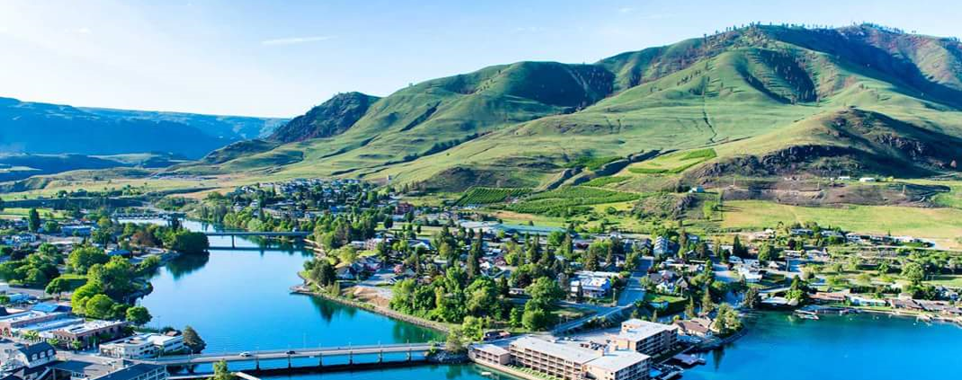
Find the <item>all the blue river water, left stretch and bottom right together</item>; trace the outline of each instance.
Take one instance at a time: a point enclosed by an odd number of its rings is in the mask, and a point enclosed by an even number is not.
[[[186,222],[194,230],[211,226]],[[211,239],[230,246],[229,237]],[[238,239],[240,248],[256,243]],[[206,257],[177,259],[151,279],[141,300],[155,316],[151,325],[190,324],[207,342],[205,352],[316,345],[388,344],[441,340],[441,334],[403,321],[317,297],[291,295],[296,273],[311,254],[298,247],[212,249]],[[759,313],[747,336],[705,355],[707,365],[685,372],[687,380],[950,379],[962,328],[887,316],[823,317],[803,321]],[[278,377],[291,380],[479,380],[476,366],[392,368],[364,372]],[[496,376],[496,375],[495,375]],[[509,379],[508,376],[500,376]]]

